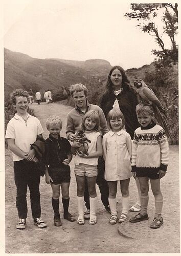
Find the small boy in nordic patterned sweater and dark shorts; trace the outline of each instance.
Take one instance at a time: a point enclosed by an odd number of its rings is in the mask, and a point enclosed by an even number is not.
[[[155,199],[155,215],[151,228],[159,228],[163,224],[163,196],[160,179],[166,174],[169,160],[169,145],[163,128],[153,121],[154,113],[150,105],[138,104],[136,107],[141,127],[135,130],[132,145],[132,174],[138,177],[141,188],[141,211],[132,217],[130,222],[148,220],[149,179]]]

